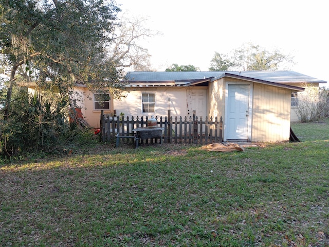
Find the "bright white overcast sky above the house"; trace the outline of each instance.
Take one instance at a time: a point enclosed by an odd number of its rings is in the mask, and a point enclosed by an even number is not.
[[[161,35],[149,38],[152,67],[194,65],[208,71],[215,52],[230,54],[251,42],[294,57],[291,70],[329,81],[325,0],[116,0],[122,12],[147,17]],[[326,83],[329,84],[329,83]],[[328,87],[329,85],[322,84]]]

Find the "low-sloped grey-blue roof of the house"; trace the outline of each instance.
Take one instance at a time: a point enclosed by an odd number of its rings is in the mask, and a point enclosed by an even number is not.
[[[273,83],[326,83],[294,71],[128,72],[126,79],[132,85],[139,86],[177,86],[206,78],[221,78],[229,74]]]

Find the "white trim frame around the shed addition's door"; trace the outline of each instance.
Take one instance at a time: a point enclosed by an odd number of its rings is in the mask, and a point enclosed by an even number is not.
[[[227,141],[227,126],[228,126],[228,85],[229,84],[234,84],[234,85],[249,85],[249,100],[248,100],[248,142],[251,141],[251,125],[252,125],[252,82],[232,82],[232,81],[227,81],[225,83],[225,113],[224,113],[224,137],[223,141]]]

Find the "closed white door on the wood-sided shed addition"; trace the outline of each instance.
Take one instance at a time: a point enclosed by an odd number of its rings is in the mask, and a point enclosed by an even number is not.
[[[249,85],[228,85],[226,139],[248,139]]]

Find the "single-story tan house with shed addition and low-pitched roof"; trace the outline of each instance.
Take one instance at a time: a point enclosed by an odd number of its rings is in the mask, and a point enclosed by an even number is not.
[[[125,98],[99,95],[77,87],[83,115],[99,127],[99,114],[124,116],[223,117],[223,139],[249,142],[289,140],[294,115],[291,97],[303,92],[305,83],[325,81],[291,71],[265,72],[129,72]],[[294,101],[293,101],[294,103]],[[296,119],[297,120],[297,119]]]

